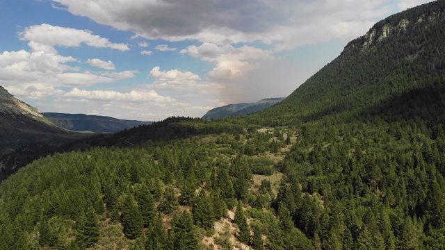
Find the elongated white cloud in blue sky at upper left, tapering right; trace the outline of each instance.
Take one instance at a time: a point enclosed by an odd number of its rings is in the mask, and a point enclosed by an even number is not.
[[[34,25],[19,33],[20,40],[29,40],[32,51],[56,53],[54,46],[79,47],[82,43],[91,47],[118,49],[127,51],[127,44],[113,43],[91,31],[75,28],[52,26],[50,24]]]

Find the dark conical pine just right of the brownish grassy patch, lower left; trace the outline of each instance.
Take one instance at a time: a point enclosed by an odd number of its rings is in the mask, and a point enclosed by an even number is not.
[[[125,197],[121,220],[127,238],[133,240],[141,235],[144,227],[143,217],[138,206],[136,206],[136,201],[130,195]]]

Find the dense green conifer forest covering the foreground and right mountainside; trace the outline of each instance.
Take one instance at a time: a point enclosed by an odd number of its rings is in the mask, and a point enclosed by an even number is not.
[[[444,17],[378,22],[259,113],[36,160],[0,184],[0,249],[444,249]]]

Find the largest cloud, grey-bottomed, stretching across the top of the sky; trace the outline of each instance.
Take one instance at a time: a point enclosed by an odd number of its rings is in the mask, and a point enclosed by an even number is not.
[[[199,40],[218,45],[261,41],[278,43],[280,49],[355,38],[366,33],[370,22],[390,11],[385,5],[389,0],[53,1],[74,15],[152,40]],[[348,24],[353,28],[339,30]]]

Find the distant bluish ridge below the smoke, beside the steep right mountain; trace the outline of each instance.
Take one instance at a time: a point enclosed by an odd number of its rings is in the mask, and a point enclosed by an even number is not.
[[[259,110],[263,110],[264,108],[269,108],[270,106],[275,105],[276,103],[282,101],[284,98],[268,98],[262,99],[256,103],[237,103],[237,104],[229,104],[223,107],[213,108],[209,110],[202,119],[216,119],[219,117],[226,117],[229,115],[248,115],[251,113],[255,113]]]

